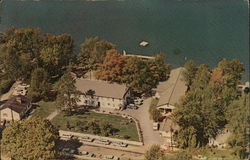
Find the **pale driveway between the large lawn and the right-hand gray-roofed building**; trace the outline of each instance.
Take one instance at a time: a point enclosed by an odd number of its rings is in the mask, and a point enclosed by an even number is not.
[[[161,145],[164,143],[164,139],[160,136],[159,132],[153,130],[153,121],[149,119],[148,110],[151,100],[152,98],[144,100],[143,105],[141,105],[137,110],[126,109],[121,111],[121,113],[130,115],[139,121],[146,147],[153,144]]]

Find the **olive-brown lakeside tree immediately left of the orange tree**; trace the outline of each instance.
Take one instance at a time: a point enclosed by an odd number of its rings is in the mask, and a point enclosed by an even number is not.
[[[86,39],[80,45],[80,53],[77,61],[80,66],[88,66],[88,68],[92,69],[94,64],[103,63],[108,50],[115,48],[114,44],[100,40],[98,37]]]

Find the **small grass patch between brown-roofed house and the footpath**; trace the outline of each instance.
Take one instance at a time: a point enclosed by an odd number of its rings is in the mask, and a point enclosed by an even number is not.
[[[35,109],[31,115],[34,117],[46,118],[50,115],[50,113],[56,110],[55,102],[40,101],[36,104],[33,104],[33,106],[35,107]]]

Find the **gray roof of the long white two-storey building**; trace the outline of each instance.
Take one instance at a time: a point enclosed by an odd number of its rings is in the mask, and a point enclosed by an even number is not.
[[[86,93],[89,90],[93,90],[94,95],[100,97],[110,97],[116,99],[123,99],[126,94],[127,87],[123,84],[109,83],[100,80],[87,80],[87,79],[76,79],[75,84],[77,90],[82,93]]]

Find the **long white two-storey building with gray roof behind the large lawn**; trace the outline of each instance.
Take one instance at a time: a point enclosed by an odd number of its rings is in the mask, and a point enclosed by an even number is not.
[[[123,84],[100,80],[76,79],[76,88],[82,93],[78,105],[100,107],[100,109],[122,109],[130,95]]]

